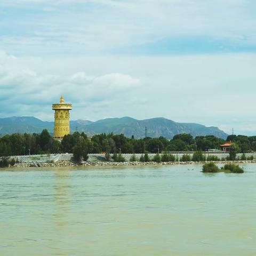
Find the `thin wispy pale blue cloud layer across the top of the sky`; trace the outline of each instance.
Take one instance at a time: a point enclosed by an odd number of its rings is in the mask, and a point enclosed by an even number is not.
[[[163,40],[177,42],[177,53],[205,42],[207,51],[256,50],[253,0],[3,0],[0,7],[0,43],[12,54],[138,54],[138,46],[154,54]]]

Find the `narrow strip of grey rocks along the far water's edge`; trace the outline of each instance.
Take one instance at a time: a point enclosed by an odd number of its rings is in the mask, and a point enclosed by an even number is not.
[[[75,163],[71,161],[58,161],[55,163],[37,163],[38,167],[65,167],[65,166],[135,166],[135,165],[177,165],[177,164],[204,164],[205,162],[82,162],[82,163]],[[217,164],[226,164],[226,163],[239,163],[239,164],[249,164],[249,163],[256,163],[256,160],[246,160],[246,161],[216,161],[214,163]],[[9,167],[35,167],[34,163],[15,163],[13,166]]]

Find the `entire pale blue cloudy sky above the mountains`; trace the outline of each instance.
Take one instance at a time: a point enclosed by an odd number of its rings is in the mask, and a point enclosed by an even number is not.
[[[130,116],[256,135],[255,0],[1,0],[0,118]]]

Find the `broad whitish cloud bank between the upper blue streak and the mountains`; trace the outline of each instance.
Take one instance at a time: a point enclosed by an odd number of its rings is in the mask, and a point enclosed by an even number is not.
[[[247,134],[256,130],[256,55],[84,57],[65,62],[1,56],[1,117],[34,115],[50,121],[51,104],[64,94],[74,105],[72,119],[163,116],[220,126],[229,133],[232,127]]]

